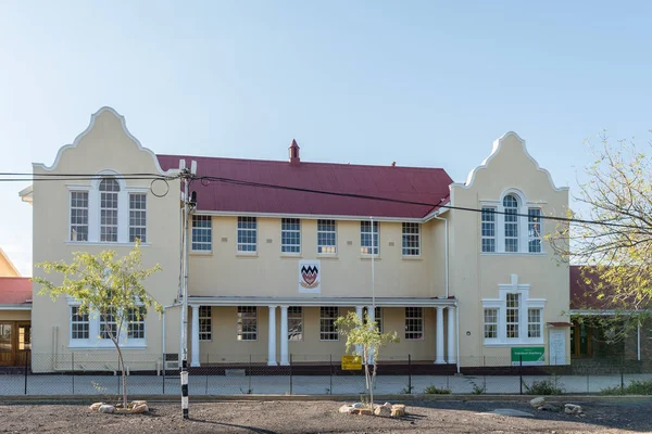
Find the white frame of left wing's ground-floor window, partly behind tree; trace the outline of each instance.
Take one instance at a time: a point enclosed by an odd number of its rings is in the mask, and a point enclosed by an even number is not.
[[[110,339],[102,339],[101,316],[97,309],[90,309],[88,315],[88,339],[73,339],[73,307],[79,307],[79,301],[73,297],[66,297],[67,310],[68,310],[68,348],[84,348],[84,349],[106,349],[114,348],[113,342]],[[143,304],[137,303],[139,307],[143,307]],[[74,321],[80,323],[79,321]],[[123,329],[120,331],[120,346],[121,348],[134,348],[143,349],[147,348],[147,316],[142,318],[143,324],[143,337],[129,337],[129,324],[123,324]]]

